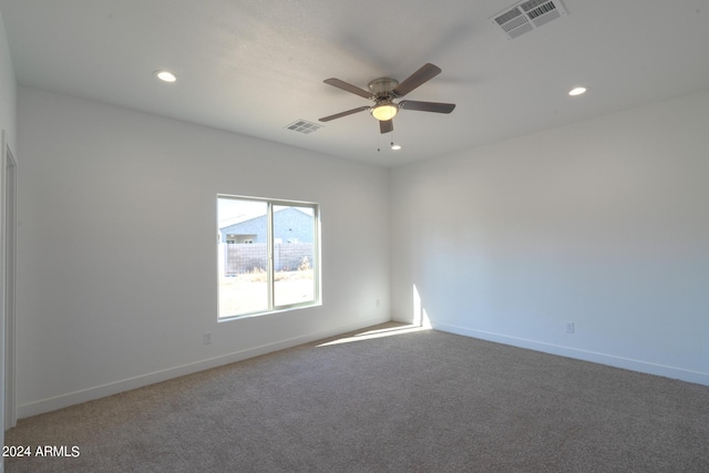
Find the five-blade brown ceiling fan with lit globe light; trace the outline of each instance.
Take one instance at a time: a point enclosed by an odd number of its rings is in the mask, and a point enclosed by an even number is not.
[[[409,92],[435,78],[440,73],[441,68],[427,63],[401,83],[391,78],[374,79],[368,84],[369,91],[348,84],[339,79],[326,79],[323,81],[326,84],[342,89],[343,91],[364,99],[369,99],[373,101],[374,104],[359,106],[357,109],[336,113],[335,115],[325,116],[320,119],[320,122],[329,122],[330,120],[341,119],[342,116],[369,110],[371,111],[372,116],[379,121],[379,130],[381,133],[389,133],[394,130],[392,119],[397,115],[400,109],[418,110],[420,112],[451,113],[453,109],[455,109],[454,103],[419,102],[414,100],[402,100],[395,102],[397,99],[407,95]]]

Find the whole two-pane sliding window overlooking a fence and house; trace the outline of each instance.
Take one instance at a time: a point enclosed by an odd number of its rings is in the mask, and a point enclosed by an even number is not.
[[[318,210],[217,196],[219,319],[319,304]]]

